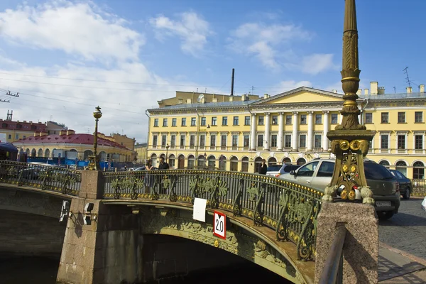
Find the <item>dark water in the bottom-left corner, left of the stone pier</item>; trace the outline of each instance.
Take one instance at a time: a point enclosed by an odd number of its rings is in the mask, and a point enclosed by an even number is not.
[[[55,284],[59,259],[0,258],[1,284]]]

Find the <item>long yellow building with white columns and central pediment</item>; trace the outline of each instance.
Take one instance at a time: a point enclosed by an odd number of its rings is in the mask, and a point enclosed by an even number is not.
[[[397,168],[408,178],[425,172],[424,86],[420,92],[385,94],[371,82],[361,94],[359,121],[375,130],[368,158]],[[300,87],[270,97],[249,100],[226,96],[224,102],[187,102],[149,109],[147,155],[158,163],[168,155],[173,168],[197,165],[257,172],[268,164],[303,164],[333,158],[327,132],[342,121],[342,94]]]

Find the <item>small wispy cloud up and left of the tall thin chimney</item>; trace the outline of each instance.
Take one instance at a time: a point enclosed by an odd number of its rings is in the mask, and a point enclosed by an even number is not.
[[[180,45],[182,51],[197,56],[207,44],[207,36],[212,34],[209,23],[194,12],[180,13],[179,17],[179,20],[173,21],[160,15],[151,18],[150,23],[155,28],[158,39],[178,36],[182,40]]]

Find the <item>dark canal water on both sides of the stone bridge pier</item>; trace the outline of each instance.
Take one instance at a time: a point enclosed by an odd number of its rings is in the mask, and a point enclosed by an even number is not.
[[[0,259],[0,284],[56,284],[58,265],[59,259],[36,257],[3,258]],[[268,284],[291,283],[275,273],[256,266],[254,263],[247,262],[238,267],[204,271],[181,278],[153,281],[149,284],[253,283],[259,280]]]

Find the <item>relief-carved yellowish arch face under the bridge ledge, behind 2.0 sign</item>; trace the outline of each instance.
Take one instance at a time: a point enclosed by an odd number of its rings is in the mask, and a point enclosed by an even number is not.
[[[293,261],[274,249],[270,240],[251,234],[244,226],[229,222],[230,217],[226,224],[226,239],[219,239],[213,235],[211,215],[206,216],[204,223],[192,219],[192,211],[189,210],[142,207],[140,213],[141,234],[165,234],[199,241],[241,256],[293,283],[307,283]]]

